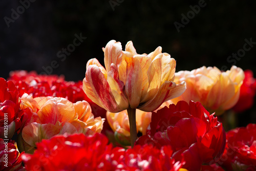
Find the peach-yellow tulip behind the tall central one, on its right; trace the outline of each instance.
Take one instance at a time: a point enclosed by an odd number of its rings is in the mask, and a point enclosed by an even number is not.
[[[175,75],[174,81],[186,81],[187,89],[180,97],[167,103],[176,104],[180,100],[200,101],[204,108],[217,115],[237,103],[244,79],[243,70],[236,66],[226,72],[221,72],[216,67],[201,67],[193,71],[180,71]]]

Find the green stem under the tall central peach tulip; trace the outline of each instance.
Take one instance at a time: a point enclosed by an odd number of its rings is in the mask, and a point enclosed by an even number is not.
[[[136,109],[128,108],[127,109],[129,124],[130,124],[130,135],[131,135],[131,146],[134,146],[134,143],[137,139],[137,127],[136,127]]]

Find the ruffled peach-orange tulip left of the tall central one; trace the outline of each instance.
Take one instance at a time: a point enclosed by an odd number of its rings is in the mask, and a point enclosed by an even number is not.
[[[36,142],[57,134],[100,133],[104,119],[94,118],[87,101],[72,103],[61,97],[36,97],[24,94],[20,108],[33,112],[28,125],[22,131],[23,140],[35,147]]]

